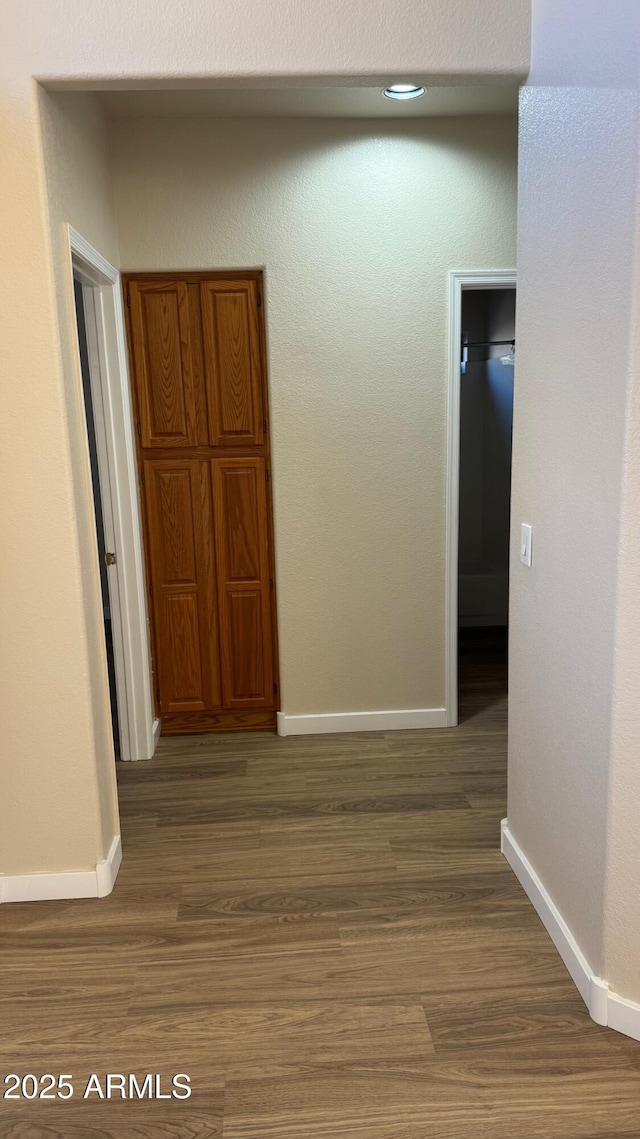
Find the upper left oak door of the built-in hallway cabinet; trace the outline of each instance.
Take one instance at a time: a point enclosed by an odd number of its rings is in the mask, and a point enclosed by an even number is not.
[[[188,287],[131,281],[129,295],[142,446],[192,446],[198,431]]]

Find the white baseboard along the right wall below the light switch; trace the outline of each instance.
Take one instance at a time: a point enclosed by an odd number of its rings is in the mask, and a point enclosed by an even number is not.
[[[509,830],[508,819],[501,822],[501,851],[563,958],[591,1019],[640,1040],[640,1005],[618,997],[593,972],[544,883]]]

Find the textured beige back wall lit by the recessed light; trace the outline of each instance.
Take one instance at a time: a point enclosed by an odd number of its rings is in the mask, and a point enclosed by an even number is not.
[[[123,269],[266,270],[287,714],[444,703],[446,274],[514,264],[515,134],[112,124]]]

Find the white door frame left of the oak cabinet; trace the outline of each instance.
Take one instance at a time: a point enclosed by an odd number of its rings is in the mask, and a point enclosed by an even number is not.
[[[126,364],[124,311],[117,269],[66,226],[69,317],[77,346],[73,281],[82,285],[89,375],[96,425],[105,541],[116,564],[108,567],[120,745],[123,760],[149,760],[159,736],[155,719],[149,623],[138,500],[133,415]]]

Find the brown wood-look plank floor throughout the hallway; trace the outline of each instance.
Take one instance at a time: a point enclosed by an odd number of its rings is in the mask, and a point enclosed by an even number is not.
[[[114,893],[0,910],[2,1075],[75,1088],[0,1101],[0,1134],[640,1136],[640,1044],[589,1019],[499,852],[506,708],[471,638],[456,730],[118,764]],[[91,1073],[192,1095],[84,1100]]]

